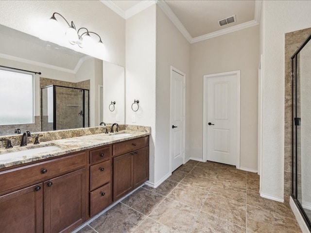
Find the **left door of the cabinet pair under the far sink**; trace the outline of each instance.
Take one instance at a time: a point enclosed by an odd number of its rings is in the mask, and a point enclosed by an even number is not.
[[[113,201],[133,190],[133,156],[130,153],[113,158]]]

